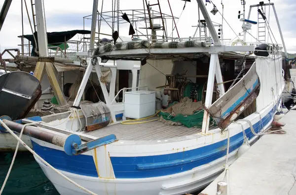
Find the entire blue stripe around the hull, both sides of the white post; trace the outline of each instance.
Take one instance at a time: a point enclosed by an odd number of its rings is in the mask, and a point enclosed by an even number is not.
[[[263,125],[260,121],[253,125],[256,132],[272,120],[275,108],[262,118]],[[246,129],[245,132],[249,139],[254,137],[250,128]],[[242,143],[243,132],[232,136],[230,138],[229,152],[238,149]],[[92,156],[68,156],[64,151],[40,146],[33,141],[32,144],[34,151],[55,168],[79,175],[98,177]],[[227,139],[194,150],[174,154],[136,157],[112,156],[111,163],[115,178],[158,177],[188,171],[219,159],[226,155],[226,146]]]

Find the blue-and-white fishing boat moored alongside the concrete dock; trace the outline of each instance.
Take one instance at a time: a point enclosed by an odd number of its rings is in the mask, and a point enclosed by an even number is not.
[[[247,42],[247,31],[257,22],[245,18],[243,12],[239,15],[243,16],[243,40],[226,43],[218,36],[204,2],[197,3],[204,17],[198,21],[199,28],[205,27],[210,37],[169,38],[163,13],[159,10],[160,15],[151,16],[157,12],[152,13],[153,4],[147,3],[142,10],[149,24],[145,29],[151,30],[147,40],[116,42],[118,31],[112,29],[114,42],[95,48],[99,9],[94,0],[90,60],[70,111],[22,121],[2,118],[16,132],[28,124],[23,133],[31,136],[36,161],[60,194],[85,191],[40,157],[98,195],[182,195],[212,182],[225,169],[225,161],[231,164],[237,159],[243,144],[254,144],[269,129],[282,105],[284,40],[283,46]],[[245,10],[245,0],[242,5]],[[264,6],[275,10],[273,3],[260,2],[250,11],[258,7],[266,19],[261,11]],[[122,13],[130,23],[129,34],[134,35],[132,17],[124,11],[116,10],[118,24]],[[143,15],[139,17],[143,21]],[[154,17],[162,20],[160,26],[153,26]],[[280,27],[278,20],[277,24]],[[156,39],[159,29],[163,36]],[[139,82],[133,74],[133,86],[115,95],[114,75],[110,83],[102,79],[100,63],[108,60],[116,60],[115,72],[139,66]],[[105,102],[79,105],[93,68]],[[116,100],[119,94],[122,101]],[[164,102],[161,106],[159,99]]]

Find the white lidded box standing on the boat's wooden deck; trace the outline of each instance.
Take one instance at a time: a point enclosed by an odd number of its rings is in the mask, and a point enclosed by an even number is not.
[[[144,118],[155,114],[155,91],[124,93],[124,117]]]

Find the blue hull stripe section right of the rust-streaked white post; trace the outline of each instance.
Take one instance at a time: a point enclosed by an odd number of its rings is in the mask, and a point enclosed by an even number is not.
[[[262,124],[253,125],[256,132],[273,119],[275,107],[263,117]],[[251,128],[245,130],[249,139],[254,137]],[[229,152],[243,144],[243,132],[230,138]],[[115,157],[111,163],[116,178],[148,178],[171,175],[191,170],[226,155],[227,139],[190,151],[157,156]]]

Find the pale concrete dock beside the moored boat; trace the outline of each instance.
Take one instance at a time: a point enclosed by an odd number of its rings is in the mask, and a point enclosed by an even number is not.
[[[296,195],[296,110],[280,121],[286,134],[263,135],[230,165],[228,195]],[[216,195],[223,175],[201,194]]]

